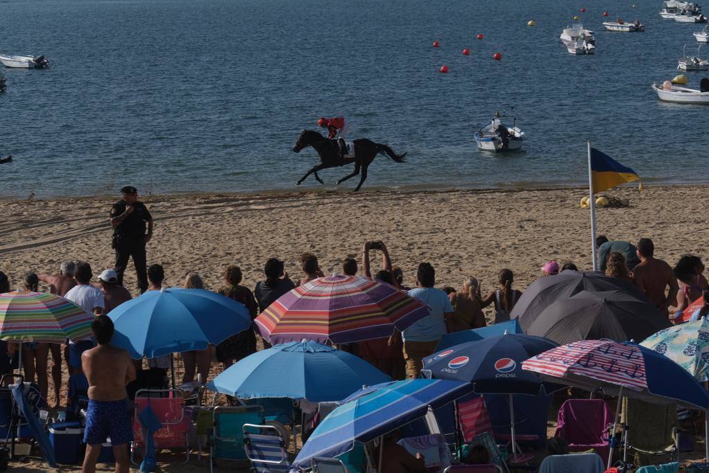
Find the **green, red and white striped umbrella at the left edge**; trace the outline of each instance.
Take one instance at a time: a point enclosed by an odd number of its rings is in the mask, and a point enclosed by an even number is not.
[[[63,297],[44,292],[0,294],[0,339],[64,343],[91,337],[94,316]]]

